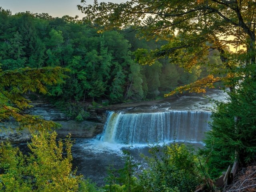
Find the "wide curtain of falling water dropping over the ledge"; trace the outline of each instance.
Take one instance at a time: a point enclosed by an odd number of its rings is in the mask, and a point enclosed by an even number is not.
[[[156,113],[106,112],[104,131],[98,139],[120,144],[201,142],[209,130],[210,112],[168,111]]]

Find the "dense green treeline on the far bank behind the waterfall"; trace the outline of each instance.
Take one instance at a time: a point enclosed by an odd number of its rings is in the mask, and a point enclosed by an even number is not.
[[[65,84],[49,88],[51,98],[66,103],[155,99],[207,73],[199,66],[184,72],[168,59],[141,66],[133,52],[158,48],[163,42],[138,39],[138,33],[129,29],[98,30],[70,16],[53,18],[30,12],[12,15],[0,8],[1,68],[68,68]],[[206,62],[221,61],[218,53],[212,52]]]

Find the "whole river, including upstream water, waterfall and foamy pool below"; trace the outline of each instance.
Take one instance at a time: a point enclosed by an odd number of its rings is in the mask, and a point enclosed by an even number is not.
[[[173,142],[177,137],[172,134],[178,133],[180,139],[176,141],[190,143],[195,148],[202,147],[204,132],[210,129],[207,122],[210,121],[213,104],[209,98],[225,101],[226,97],[227,94],[221,90],[210,90],[204,95],[189,94],[154,106],[138,106],[115,113],[109,112],[102,134],[92,139],[72,138],[75,140],[72,147],[73,166],[77,168],[78,174],[102,186],[108,167],[123,167],[123,150],[128,150],[127,142],[132,145],[130,153],[134,161],[140,164],[137,171],[146,166],[140,154],[149,155],[148,144],[145,142],[147,138],[151,141],[150,144],[154,142],[152,138],[159,138],[158,142],[162,144]],[[142,129],[143,132],[140,132]],[[174,131],[170,132],[170,129]],[[193,135],[194,132],[196,136]],[[26,148],[26,144],[19,146]]]

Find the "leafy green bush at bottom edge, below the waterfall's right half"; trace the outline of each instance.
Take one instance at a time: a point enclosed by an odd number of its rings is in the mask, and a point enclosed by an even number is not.
[[[198,160],[185,144],[170,144],[150,149],[149,168],[140,175],[143,191],[194,191],[200,184]]]

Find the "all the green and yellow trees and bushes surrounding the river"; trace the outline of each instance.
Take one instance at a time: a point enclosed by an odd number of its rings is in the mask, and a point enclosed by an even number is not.
[[[255,167],[254,0],[81,2],[82,20],[0,8],[0,120],[16,120],[32,134],[29,154],[0,144],[0,190],[217,192],[227,188],[214,181],[234,162],[241,170]],[[228,101],[214,101],[203,148],[156,145],[141,172],[128,150],[124,167],[110,168],[100,188],[72,168],[70,136],[58,140],[48,132],[58,124],[22,113],[32,107],[27,94],[44,95],[65,110],[219,86],[228,89]],[[254,179],[227,191],[255,191]]]

